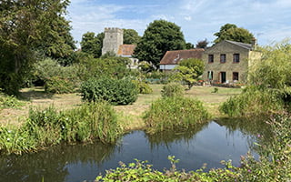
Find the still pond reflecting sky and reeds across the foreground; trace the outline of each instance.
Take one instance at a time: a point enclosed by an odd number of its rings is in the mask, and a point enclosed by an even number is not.
[[[251,151],[257,158],[257,136],[269,138],[267,126],[257,122],[212,121],[184,132],[164,132],[148,136],[143,131],[126,134],[115,145],[57,146],[35,154],[0,157],[0,181],[94,181],[105,169],[147,160],[154,168],[170,167],[167,157],[180,159],[177,168],[196,170],[223,167],[221,160],[231,159],[238,166],[240,156]]]

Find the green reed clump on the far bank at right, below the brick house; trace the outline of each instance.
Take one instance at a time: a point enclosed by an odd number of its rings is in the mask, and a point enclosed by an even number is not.
[[[275,94],[256,87],[247,87],[238,96],[233,96],[219,107],[220,112],[228,116],[270,116],[283,109],[282,100]]]

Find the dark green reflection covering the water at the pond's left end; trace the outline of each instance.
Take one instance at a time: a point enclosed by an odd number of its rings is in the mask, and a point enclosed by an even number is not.
[[[82,162],[101,165],[115,151],[115,145],[92,144],[51,147],[36,154],[0,157],[0,181],[63,182],[67,164]]]

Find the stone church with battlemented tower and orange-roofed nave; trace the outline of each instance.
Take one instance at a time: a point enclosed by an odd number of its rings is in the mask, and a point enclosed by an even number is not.
[[[138,66],[138,59],[134,58],[136,45],[124,45],[124,31],[120,28],[105,28],[105,37],[103,39],[102,55],[107,52],[113,52],[117,56],[129,58],[130,65],[128,67],[136,69]]]

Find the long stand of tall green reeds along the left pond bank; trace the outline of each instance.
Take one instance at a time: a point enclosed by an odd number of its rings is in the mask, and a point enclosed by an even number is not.
[[[0,152],[28,153],[62,141],[112,143],[121,132],[114,109],[105,102],[85,103],[63,112],[57,112],[53,106],[31,109],[24,126],[0,127]]]

